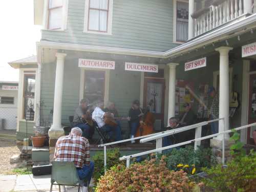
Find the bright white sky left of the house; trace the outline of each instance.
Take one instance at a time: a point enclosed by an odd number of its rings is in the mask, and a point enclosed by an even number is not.
[[[0,81],[18,81],[8,62],[36,55],[40,26],[34,25],[33,0],[0,2]]]

